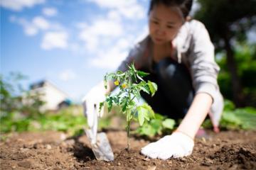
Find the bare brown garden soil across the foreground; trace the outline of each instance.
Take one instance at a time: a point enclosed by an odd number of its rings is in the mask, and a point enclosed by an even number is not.
[[[151,141],[132,137],[127,152],[126,132],[108,130],[113,162],[97,161],[85,135],[62,132],[14,133],[0,142],[1,169],[256,169],[256,131],[208,131],[197,138],[193,154],[179,159],[149,159],[139,154]]]

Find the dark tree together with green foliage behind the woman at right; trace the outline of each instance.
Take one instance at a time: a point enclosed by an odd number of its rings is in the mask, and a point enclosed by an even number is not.
[[[238,46],[247,42],[248,33],[255,33],[253,29],[255,30],[256,26],[256,1],[198,0],[198,3],[201,8],[196,11],[194,18],[206,26],[215,52],[225,52],[225,63],[220,66],[221,91],[225,98],[232,99],[236,106],[255,107],[255,80],[252,78],[255,77],[255,64],[249,62],[255,61],[255,55],[247,53],[240,61]],[[252,46],[255,49],[255,44]],[[255,54],[255,50],[251,54]]]

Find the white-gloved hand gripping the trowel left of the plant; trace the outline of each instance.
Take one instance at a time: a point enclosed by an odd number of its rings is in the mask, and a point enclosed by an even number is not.
[[[100,111],[100,102],[105,101],[106,89],[104,84],[100,83],[93,87],[84,98],[82,98],[82,106],[85,117],[87,117],[87,124],[89,128],[97,125],[97,116],[102,117],[104,109]],[[95,111],[96,110],[96,111]],[[97,113],[97,116],[94,114]]]

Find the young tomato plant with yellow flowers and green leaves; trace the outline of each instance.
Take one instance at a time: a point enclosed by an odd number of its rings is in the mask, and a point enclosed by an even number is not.
[[[135,69],[134,64],[128,66],[126,72],[117,71],[114,73],[106,74],[104,77],[105,88],[107,89],[107,81],[114,81],[114,85],[119,87],[117,94],[110,94],[106,96],[106,100],[100,103],[100,110],[107,104],[108,111],[111,111],[113,104],[116,104],[122,109],[122,113],[126,114],[127,118],[127,149],[129,150],[129,134],[130,123],[132,120],[139,121],[139,125],[143,125],[145,120],[154,118],[154,111],[152,108],[144,103],[140,106],[137,105],[137,101],[140,100],[140,91],[146,92],[154,96],[157,85],[151,81],[144,81],[142,79],[148,73],[141,72]]]

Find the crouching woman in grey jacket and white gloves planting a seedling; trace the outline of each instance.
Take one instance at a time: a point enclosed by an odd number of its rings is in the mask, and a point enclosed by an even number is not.
[[[214,61],[214,47],[203,23],[190,20],[192,0],[151,0],[149,6],[149,35],[129,52],[118,67],[125,71],[134,62],[137,69],[149,72],[146,79],[159,88],[153,98],[142,94],[156,113],[170,118],[183,118],[171,135],[142,148],[151,158],[169,159],[188,156],[193,151],[193,139],[206,115],[209,114],[218,131],[223,111]],[[104,94],[114,89],[109,82],[107,91],[102,83],[83,99],[88,125],[92,126],[90,110],[103,101]]]

